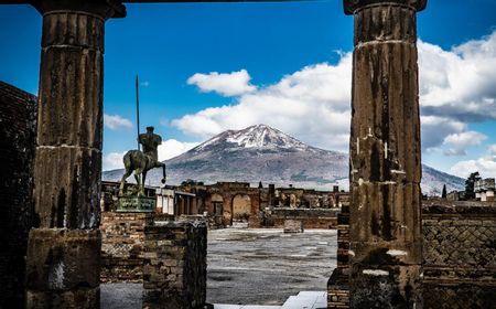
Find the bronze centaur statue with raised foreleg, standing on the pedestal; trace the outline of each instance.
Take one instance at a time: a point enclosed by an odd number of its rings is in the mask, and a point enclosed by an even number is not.
[[[144,181],[147,172],[153,168],[162,168],[163,179],[165,183],[165,164],[159,161],[158,148],[162,143],[162,137],[153,134],[153,127],[147,127],[147,132],[139,135],[138,141],[143,146],[143,151],[129,150],[123,157],[125,174],[120,180],[119,195],[123,194],[126,180],[134,171],[134,179],[138,185],[138,195],[144,195]],[[142,175],[140,181],[140,175]]]

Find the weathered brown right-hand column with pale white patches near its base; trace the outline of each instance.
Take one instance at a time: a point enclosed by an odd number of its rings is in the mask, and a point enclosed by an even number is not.
[[[427,0],[345,0],[355,17],[351,308],[422,308],[418,11]]]

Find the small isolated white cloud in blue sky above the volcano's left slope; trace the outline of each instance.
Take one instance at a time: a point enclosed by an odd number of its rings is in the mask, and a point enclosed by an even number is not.
[[[187,78],[187,84],[196,85],[204,93],[216,92],[223,96],[239,96],[257,89],[250,84],[250,79],[248,72],[240,70],[231,73],[196,73]]]

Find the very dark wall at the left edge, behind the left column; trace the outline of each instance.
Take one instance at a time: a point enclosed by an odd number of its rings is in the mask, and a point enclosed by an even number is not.
[[[34,213],[35,100],[0,82],[0,308],[23,303],[24,257]]]

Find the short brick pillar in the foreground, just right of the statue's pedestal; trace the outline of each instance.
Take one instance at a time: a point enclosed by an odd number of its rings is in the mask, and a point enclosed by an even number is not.
[[[204,308],[207,227],[158,222],[144,228],[143,308]]]

